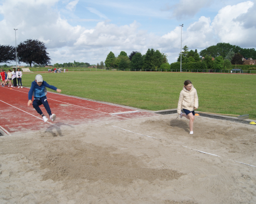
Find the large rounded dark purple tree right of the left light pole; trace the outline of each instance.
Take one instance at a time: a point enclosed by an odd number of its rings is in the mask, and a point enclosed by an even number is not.
[[[46,52],[44,42],[38,41],[37,39],[27,39],[27,41],[21,42],[17,46],[17,58],[19,63],[23,62],[29,64],[40,64],[47,65],[51,59]]]

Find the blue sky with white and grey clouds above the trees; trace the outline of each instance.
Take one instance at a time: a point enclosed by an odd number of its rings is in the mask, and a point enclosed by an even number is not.
[[[27,39],[45,43],[52,61],[96,64],[148,48],[177,60],[182,47],[226,42],[256,48],[256,0],[0,0],[0,45]],[[15,63],[12,63],[15,64]]]

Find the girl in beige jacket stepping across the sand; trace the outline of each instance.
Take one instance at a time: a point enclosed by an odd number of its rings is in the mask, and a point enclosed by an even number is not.
[[[193,122],[195,119],[194,110],[197,110],[197,108],[198,108],[197,90],[195,90],[191,81],[186,80],[184,82],[183,89],[180,92],[177,113],[179,114],[180,118],[184,116],[185,118],[189,119],[190,134],[193,134]],[[185,112],[185,114],[182,113],[182,109]]]

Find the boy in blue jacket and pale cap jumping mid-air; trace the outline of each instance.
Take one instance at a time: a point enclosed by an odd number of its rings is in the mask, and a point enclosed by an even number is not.
[[[31,83],[31,88],[29,90],[29,102],[27,102],[27,106],[32,104],[32,96],[34,96],[33,107],[38,112],[38,114],[42,116],[42,119],[44,119],[44,122],[47,122],[48,118],[42,113],[39,107],[39,105],[42,105],[42,104],[47,110],[51,120],[55,121],[56,115],[52,114],[51,109],[49,107],[47,97],[46,97],[46,94],[47,94],[46,88],[50,88],[50,89],[56,90],[56,92],[58,93],[61,93],[61,89],[57,89],[55,86],[48,85],[48,83],[42,79],[42,75],[40,74],[36,75],[35,81]]]

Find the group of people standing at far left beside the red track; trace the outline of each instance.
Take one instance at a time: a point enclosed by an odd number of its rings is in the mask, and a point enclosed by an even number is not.
[[[13,68],[13,71],[8,70],[6,72],[5,70],[1,69],[1,85],[8,86],[8,87],[17,87],[17,88],[23,88],[22,86],[22,71],[20,71],[20,68]],[[18,82],[18,84],[17,84]]]

